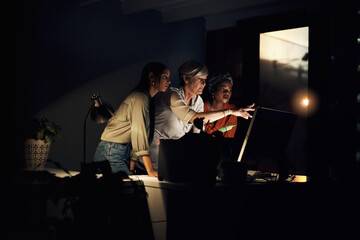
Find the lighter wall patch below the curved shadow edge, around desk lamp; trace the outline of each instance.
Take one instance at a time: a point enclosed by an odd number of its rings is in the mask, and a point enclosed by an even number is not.
[[[37,113],[37,117],[46,116],[62,127],[62,136],[52,144],[49,158],[59,162],[64,168],[80,170],[83,160],[83,125],[86,113],[92,101],[93,93],[116,110],[121,101],[140,80],[143,66],[147,62],[138,62],[89,81],[80,88],[68,92]],[[89,118],[87,121],[87,162],[93,160],[95,148],[100,140],[106,123],[97,124]],[[47,167],[54,167],[47,163]]]

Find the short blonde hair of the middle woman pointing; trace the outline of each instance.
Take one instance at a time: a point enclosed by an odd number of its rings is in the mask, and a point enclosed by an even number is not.
[[[180,86],[185,85],[183,76],[187,76],[191,78],[191,77],[201,77],[209,74],[209,71],[205,66],[205,64],[194,60],[184,62],[179,67],[178,72],[179,72]]]

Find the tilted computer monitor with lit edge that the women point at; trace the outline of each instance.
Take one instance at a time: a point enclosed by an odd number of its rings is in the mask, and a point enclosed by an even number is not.
[[[257,107],[237,161],[263,172],[286,171],[285,153],[296,119],[294,113]]]

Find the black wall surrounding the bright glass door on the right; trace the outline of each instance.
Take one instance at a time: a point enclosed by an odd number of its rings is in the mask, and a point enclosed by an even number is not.
[[[208,67],[234,76],[232,100],[244,106],[258,103],[259,33],[309,26],[308,88],[316,93],[318,109],[304,119],[307,127],[301,130],[307,135],[306,148],[296,154],[303,154],[302,161],[306,161],[301,173],[315,179],[352,178],[356,164],[359,167],[358,10],[355,4],[338,8],[319,5],[244,19],[236,27],[207,34]]]

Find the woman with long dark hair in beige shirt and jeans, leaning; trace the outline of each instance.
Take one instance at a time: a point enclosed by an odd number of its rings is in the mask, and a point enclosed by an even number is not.
[[[141,157],[149,176],[157,177],[150,159],[149,141],[153,132],[151,99],[156,93],[165,92],[170,84],[170,70],[162,63],[145,65],[141,80],[125,98],[108,121],[101,141],[96,148],[94,161],[108,160],[112,173],[129,171],[129,157]],[[152,110],[153,111],[153,110]]]

